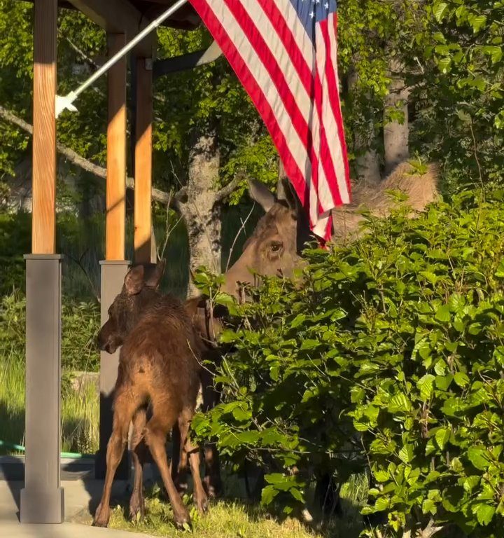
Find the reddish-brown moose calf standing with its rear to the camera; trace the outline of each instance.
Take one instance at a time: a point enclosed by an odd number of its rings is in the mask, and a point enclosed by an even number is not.
[[[167,462],[165,443],[175,425],[179,428],[181,447],[188,454],[195,503],[200,511],[207,509],[200,453],[190,445],[188,437],[200,387],[202,343],[183,304],[157,291],[163,268],[164,264],[159,264],[150,275],[142,265],[130,269],[123,290],[109,309],[109,320],[98,335],[102,350],[114,352],[120,345],[123,347],[113,396],[113,431],[107,446],[104,491],[93,522],[96,526],[106,527],[109,523],[113,477],[123,457],[131,421],[135,465],[132,515],[144,513],[141,464],[147,446],[160,470],[176,525],[190,524]],[[148,406],[152,410],[149,420]]]

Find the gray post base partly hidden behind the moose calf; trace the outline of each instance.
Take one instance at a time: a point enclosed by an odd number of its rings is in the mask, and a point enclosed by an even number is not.
[[[109,306],[123,288],[124,279],[130,262],[100,261],[102,266],[102,292],[100,299],[102,324],[109,319]],[[100,423],[99,450],[94,461],[94,476],[103,480],[106,471],[106,447],[112,433],[112,403],[113,389],[116,385],[119,364],[119,350],[114,354],[102,351],[100,353]],[[116,479],[127,480],[130,474],[130,464],[127,450],[116,471]]]

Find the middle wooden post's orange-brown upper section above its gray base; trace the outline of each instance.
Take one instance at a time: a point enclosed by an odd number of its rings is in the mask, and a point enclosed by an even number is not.
[[[107,36],[109,55],[126,44],[125,34]],[[108,73],[109,125],[107,128],[105,259],[125,257],[126,218],[126,59]]]

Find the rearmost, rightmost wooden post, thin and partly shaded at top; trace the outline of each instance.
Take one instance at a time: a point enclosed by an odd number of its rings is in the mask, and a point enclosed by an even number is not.
[[[136,263],[151,261],[153,71],[151,58],[137,59],[137,142],[134,166],[134,251]]]

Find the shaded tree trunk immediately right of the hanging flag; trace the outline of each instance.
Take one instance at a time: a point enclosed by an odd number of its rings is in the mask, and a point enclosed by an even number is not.
[[[358,83],[358,74],[352,69],[348,76],[348,90],[353,101],[353,106],[356,106],[356,85]],[[379,183],[380,168],[379,156],[374,149],[374,141],[377,138],[377,132],[374,128],[372,119],[367,123],[367,132],[356,131],[354,137],[355,153],[356,153],[356,169],[357,178],[360,184],[364,187],[372,187]]]

